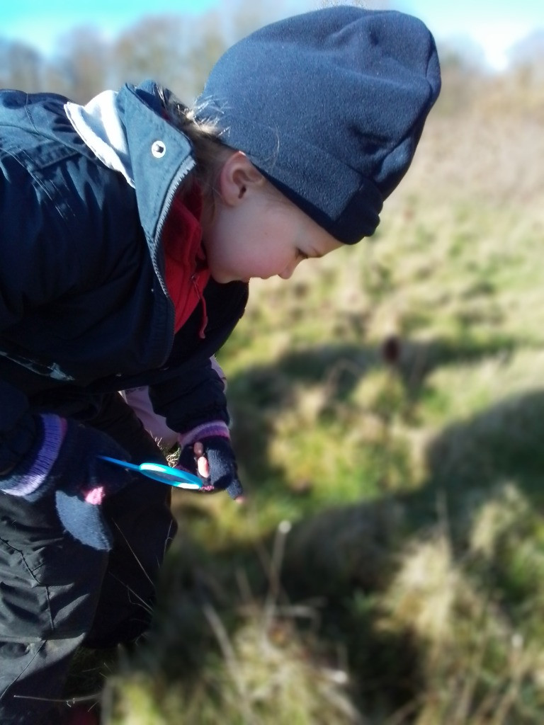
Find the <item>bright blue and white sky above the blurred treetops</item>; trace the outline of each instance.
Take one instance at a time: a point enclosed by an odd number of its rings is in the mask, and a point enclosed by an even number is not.
[[[284,0],[278,4],[288,13],[321,5],[319,0]],[[505,65],[512,43],[532,30],[544,30],[543,0],[390,0],[381,5],[421,17],[437,38],[470,38],[483,47],[490,65],[498,68]],[[228,0],[3,0],[0,36],[18,38],[48,52],[55,38],[76,25],[91,23],[115,36],[146,14],[198,13],[212,7],[228,13],[233,4]]]

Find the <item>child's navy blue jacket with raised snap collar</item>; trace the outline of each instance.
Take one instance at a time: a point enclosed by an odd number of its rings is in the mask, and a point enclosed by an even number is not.
[[[0,450],[28,410],[84,419],[103,392],[141,384],[174,430],[228,421],[209,357],[247,285],[208,283],[201,339],[198,307],[174,335],[163,274],[162,225],[194,166],[189,141],[163,118],[154,84],[124,86],[132,188],[83,143],[66,101],[0,92]]]

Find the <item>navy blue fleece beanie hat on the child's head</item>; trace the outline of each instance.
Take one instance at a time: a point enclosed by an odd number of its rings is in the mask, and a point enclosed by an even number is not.
[[[281,20],[213,67],[197,119],[247,154],[345,244],[374,233],[440,92],[434,39],[395,11],[340,6]]]

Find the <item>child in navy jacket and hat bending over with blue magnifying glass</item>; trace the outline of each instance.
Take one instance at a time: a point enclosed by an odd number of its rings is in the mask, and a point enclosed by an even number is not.
[[[334,7],[237,43],[194,110],[154,83],[0,94],[4,725],[58,723],[76,648],[149,626],[176,526],[168,486],[99,458],[163,460],[117,391],[149,386],[182,463],[239,498],[210,356],[250,278],[374,233],[439,90],[421,22]]]

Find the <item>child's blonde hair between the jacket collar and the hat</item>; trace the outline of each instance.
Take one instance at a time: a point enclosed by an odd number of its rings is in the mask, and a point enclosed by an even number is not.
[[[181,185],[181,194],[187,194],[197,183],[202,191],[204,203],[213,212],[219,173],[226,159],[236,149],[231,149],[222,143],[220,138],[222,130],[216,120],[207,120],[205,123],[197,120],[197,111],[202,109],[187,107],[165,88],[160,88],[160,97],[170,123],[189,138],[196,162],[194,169]]]

